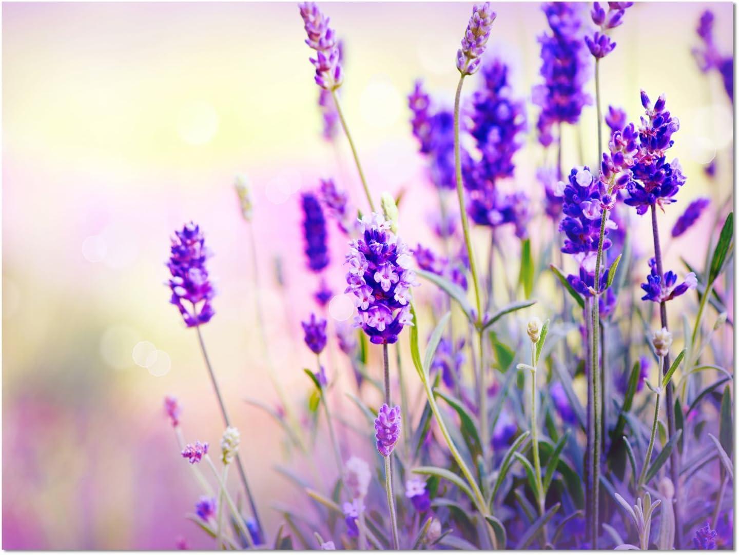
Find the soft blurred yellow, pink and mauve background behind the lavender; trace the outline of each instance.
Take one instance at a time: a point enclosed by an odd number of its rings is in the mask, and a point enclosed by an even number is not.
[[[403,238],[427,241],[437,201],[406,96],[423,78],[435,101],[451,106],[471,4],[321,7],[344,39],[341,97],[369,186],[376,195],[405,191]],[[714,200],[709,217],[667,247],[670,267],[680,270],[679,254],[702,267],[715,208],[732,202],[732,105],[718,74],[701,74],[690,52],[706,7],[718,47],[732,52],[732,4],[646,3],[627,11],[602,66],[604,107],[622,106],[638,120],[645,89],[653,99],[666,93],[680,118],[671,153],[688,181],[662,220],[664,234],[690,200]],[[531,87],[545,17],[533,3],[495,10],[488,53],[511,64],[516,95],[527,98],[535,122]],[[184,518],[199,492],[162,409],[165,395],[177,395],[185,438],[217,444],[222,426],[197,338],[168,304],[165,285],[169,236],[190,219],[214,251],[219,291],[203,335],[274,534],[279,515],[269,505],[295,491],[273,463],[296,461],[286,459],[276,423],[244,402],[248,395],[276,404],[255,296],[282,383],[302,403],[310,383],[301,369],[314,358],[299,321],[315,310],[316,282],[304,270],[299,191],[335,177],[362,202],[344,137],[336,147],[321,138],[312,51],[296,5],[5,3],[2,17],[2,547],[157,549],[178,538],[212,545]],[[479,80],[467,81],[471,94]],[[593,158],[595,123],[590,106],[580,132]],[[576,131],[568,129],[572,139]],[[565,168],[579,163],[574,145],[565,143]],[[508,185],[530,194],[534,214],[542,212],[534,176],[543,157],[531,133]],[[704,166],[714,159],[709,180]],[[259,290],[236,174],[248,175],[254,190]],[[646,218],[634,225],[648,233]],[[330,231],[330,286],[340,293],[345,243],[333,222]],[[349,316],[334,306],[337,319]]]

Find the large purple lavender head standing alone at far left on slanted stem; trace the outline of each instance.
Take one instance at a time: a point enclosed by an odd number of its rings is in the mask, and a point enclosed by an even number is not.
[[[171,241],[167,263],[171,273],[169,287],[172,290],[169,302],[180,310],[187,327],[205,324],[215,314],[211,300],[216,291],[205,268],[205,261],[212,253],[205,247],[205,237],[200,227],[193,222],[185,224],[182,231],[175,231]],[[187,302],[188,306],[183,302]]]

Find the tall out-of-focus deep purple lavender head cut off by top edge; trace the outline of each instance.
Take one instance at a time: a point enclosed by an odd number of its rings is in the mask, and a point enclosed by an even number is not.
[[[576,2],[545,2],[551,34],[539,37],[544,83],[534,86],[532,101],[541,106],[537,120],[539,142],[549,146],[551,129],[558,123],[577,123],[582,107],[590,103],[583,86],[590,78],[588,49],[582,41],[581,5]]]

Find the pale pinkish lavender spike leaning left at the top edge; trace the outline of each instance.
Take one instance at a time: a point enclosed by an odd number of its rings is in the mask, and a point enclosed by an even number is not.
[[[344,74],[336,32],[328,26],[330,18],[324,16],[314,2],[304,2],[299,4],[299,8],[308,35],[305,44],[316,50],[316,58],[310,58],[310,63],[316,68],[316,84],[321,89],[335,91],[344,81]]]

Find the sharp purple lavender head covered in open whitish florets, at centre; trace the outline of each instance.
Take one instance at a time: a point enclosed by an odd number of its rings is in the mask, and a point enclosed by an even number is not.
[[[353,293],[357,324],[375,344],[398,341],[403,326],[412,325],[410,287],[418,285],[409,270],[411,256],[405,243],[390,231],[379,214],[361,219],[362,236],[350,243],[346,293]]]

